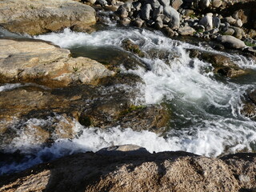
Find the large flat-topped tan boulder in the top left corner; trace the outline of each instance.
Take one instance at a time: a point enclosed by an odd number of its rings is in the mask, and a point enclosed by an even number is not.
[[[88,30],[96,22],[95,10],[71,0],[2,0],[0,26],[22,34],[42,34],[71,27]]]

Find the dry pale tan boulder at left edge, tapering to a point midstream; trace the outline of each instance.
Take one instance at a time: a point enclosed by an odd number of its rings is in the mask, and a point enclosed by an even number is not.
[[[93,83],[113,75],[90,58],[70,58],[70,50],[40,41],[0,39],[0,82],[36,82],[44,86]]]

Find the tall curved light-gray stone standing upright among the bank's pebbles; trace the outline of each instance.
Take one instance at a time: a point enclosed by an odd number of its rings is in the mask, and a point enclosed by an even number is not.
[[[171,6],[165,6],[163,8],[163,14],[170,18],[169,26],[172,30],[178,29],[180,25],[180,18],[177,10],[174,10]]]

